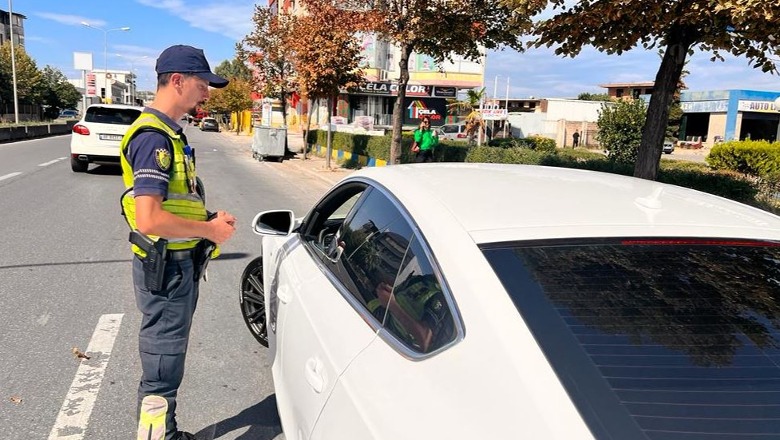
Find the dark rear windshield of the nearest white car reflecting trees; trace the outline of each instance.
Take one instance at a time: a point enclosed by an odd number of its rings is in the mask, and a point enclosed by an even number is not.
[[[596,438],[780,438],[780,243],[482,250]]]

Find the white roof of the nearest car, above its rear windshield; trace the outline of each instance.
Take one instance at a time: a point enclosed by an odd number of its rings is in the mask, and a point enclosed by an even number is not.
[[[476,243],[573,237],[780,240],[780,217],[774,214],[616,174],[453,163],[364,168],[349,178],[389,189],[423,231],[461,228]]]

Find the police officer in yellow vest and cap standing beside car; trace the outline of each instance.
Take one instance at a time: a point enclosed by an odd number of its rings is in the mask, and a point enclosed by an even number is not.
[[[209,216],[198,191],[195,153],[178,125],[228,81],[211,72],[201,49],[171,46],[157,58],[157,95],[121,143],[122,197],[131,229],[167,240],[158,289],[148,287],[148,254],[133,245],[133,285],[141,311],[138,439],[194,439],[176,426],[176,394],[184,376],[192,315],[198,301],[196,249],[202,239],[223,243],[235,217]],[[160,241],[166,243],[166,241]],[[215,256],[216,253],[212,254]],[[146,269],[146,271],[145,271]],[[159,280],[159,279],[158,279]]]

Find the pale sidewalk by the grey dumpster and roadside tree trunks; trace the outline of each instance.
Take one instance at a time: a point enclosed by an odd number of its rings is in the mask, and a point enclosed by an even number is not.
[[[221,131],[219,134],[234,144],[245,147],[247,151],[252,149],[252,135],[244,133],[236,135],[234,132],[229,131]],[[295,156],[287,156],[281,163],[273,164],[274,166],[278,166],[280,170],[295,169],[296,171],[302,171],[331,185],[354,171],[341,168],[335,160],[331,160],[331,168],[328,169],[325,167],[325,158],[314,154],[308,154],[306,160],[303,160],[303,135],[301,133],[288,133],[287,148],[292,151]]]

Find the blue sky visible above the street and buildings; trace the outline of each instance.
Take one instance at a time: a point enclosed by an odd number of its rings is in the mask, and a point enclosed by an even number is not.
[[[190,44],[205,50],[212,68],[235,56],[235,43],[252,29],[254,1],[250,0],[15,0],[14,12],[27,16],[26,49],[39,68],[49,64],[70,78],[74,52],[91,52],[95,68],[102,69],[104,33],[87,28],[86,21],[103,29],[128,26],[128,32],[108,32],[108,68],[139,76],[139,88],[153,90],[154,61],[172,44]],[[0,4],[6,9],[7,4]],[[120,55],[120,56],[117,56]],[[147,58],[142,58],[147,57]],[[687,66],[689,90],[780,90],[780,76],[748,66],[744,58],[711,62],[697,53]],[[498,76],[498,95],[510,97],[576,97],[581,92],[602,93],[599,84],[652,81],[660,64],[654,51],[634,49],[622,56],[586,48],[577,58],[561,58],[551,49],[491,53],[485,83],[490,95]]]

